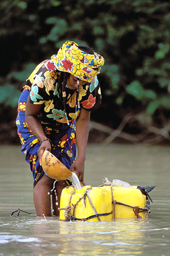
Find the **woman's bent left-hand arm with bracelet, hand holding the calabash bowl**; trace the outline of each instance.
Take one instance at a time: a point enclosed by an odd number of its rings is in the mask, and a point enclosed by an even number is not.
[[[41,110],[42,104],[32,104],[29,102],[29,98],[27,100],[27,105],[25,110],[25,119],[29,128],[36,135],[39,141],[41,141],[44,138],[47,138],[46,134],[44,133],[44,130],[42,129],[41,124],[39,123],[38,118],[36,118],[36,115],[38,114],[39,110]],[[43,141],[40,148],[38,149],[38,158],[39,158],[40,165],[41,165],[42,154],[45,150],[51,151],[50,141],[48,140]]]

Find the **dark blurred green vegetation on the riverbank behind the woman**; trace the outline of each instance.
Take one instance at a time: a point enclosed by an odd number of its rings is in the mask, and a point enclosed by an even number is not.
[[[124,129],[135,134],[168,126],[168,1],[2,0],[0,10],[2,123],[14,123],[19,88],[33,68],[73,40],[105,59],[99,77],[103,104],[92,119],[116,128],[131,113],[134,121]]]

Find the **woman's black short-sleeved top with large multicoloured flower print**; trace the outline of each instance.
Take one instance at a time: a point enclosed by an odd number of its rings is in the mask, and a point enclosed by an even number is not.
[[[58,79],[61,72],[55,68],[52,60],[40,63],[27,80],[26,87],[30,89],[30,102],[42,104],[38,118],[42,123],[60,122],[67,123],[63,96],[58,91]],[[80,110],[75,115],[77,90],[66,88],[66,113],[69,121],[76,119]],[[80,87],[80,107],[87,111],[94,111],[101,104],[101,90],[97,79],[94,77],[92,83]]]

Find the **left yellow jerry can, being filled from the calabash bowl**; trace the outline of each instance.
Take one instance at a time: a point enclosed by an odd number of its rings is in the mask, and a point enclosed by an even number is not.
[[[60,220],[109,221],[112,219],[112,194],[106,187],[64,188],[60,199]]]

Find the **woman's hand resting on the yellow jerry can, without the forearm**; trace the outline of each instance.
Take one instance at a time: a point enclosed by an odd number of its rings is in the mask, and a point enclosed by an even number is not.
[[[70,167],[70,171],[75,172],[80,182],[85,186],[84,183],[84,160],[77,158]]]

